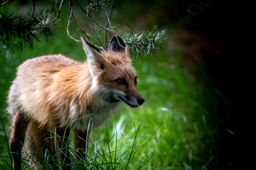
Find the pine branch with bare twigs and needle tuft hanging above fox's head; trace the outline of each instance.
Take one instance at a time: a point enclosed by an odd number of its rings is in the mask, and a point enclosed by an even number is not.
[[[106,1],[106,2],[108,2],[108,1]],[[106,31],[105,40],[107,37],[107,33],[109,33],[112,36],[117,36],[115,33],[115,29],[112,26],[112,23],[110,20],[110,17],[111,17],[112,11],[113,11],[113,2],[111,4],[109,14],[106,9],[107,3],[105,3],[105,1],[88,1],[89,5],[85,8],[83,8],[79,4],[79,2],[76,1],[76,3],[77,3],[77,5],[79,5],[79,7],[82,9],[82,11],[85,12],[86,17],[91,19],[93,32],[94,32],[94,35],[95,35],[97,41],[101,44],[101,46],[104,49],[107,49],[108,42],[106,42],[107,43],[106,45],[102,45],[101,40],[97,36],[95,26],[97,25],[101,29],[105,29],[105,31]],[[92,15],[93,11],[96,11],[96,12],[100,11],[100,10],[97,10],[96,7],[100,8],[101,11],[103,11],[105,13],[106,20],[107,20],[107,24],[105,25],[105,27],[102,26],[100,23],[97,22],[97,20],[95,20],[93,18],[93,15]],[[73,19],[75,20],[74,16],[73,16]],[[109,26],[109,28],[108,28],[108,26]],[[137,58],[142,57],[144,55],[155,56],[157,50],[163,50],[164,46],[166,46],[166,37],[165,37],[166,31],[165,30],[158,31],[157,29],[158,29],[158,26],[154,25],[152,27],[151,31],[145,31],[145,32],[141,33],[141,35],[125,33],[125,35],[123,35],[122,39],[128,45],[130,53],[133,56],[135,56]],[[81,30],[81,28],[80,28],[80,30]]]

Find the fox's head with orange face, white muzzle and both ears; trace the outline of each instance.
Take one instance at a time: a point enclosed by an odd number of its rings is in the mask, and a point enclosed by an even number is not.
[[[123,101],[132,108],[144,103],[137,90],[137,75],[126,44],[121,37],[113,36],[108,51],[100,50],[81,37],[89,73],[92,76],[92,88],[101,91],[104,100]]]

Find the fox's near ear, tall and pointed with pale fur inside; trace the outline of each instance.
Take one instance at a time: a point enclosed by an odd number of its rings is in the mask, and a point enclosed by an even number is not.
[[[87,56],[89,63],[89,71],[91,75],[96,74],[98,71],[104,70],[105,59],[101,54],[101,50],[96,46],[87,42],[84,37],[81,37],[82,46]]]

